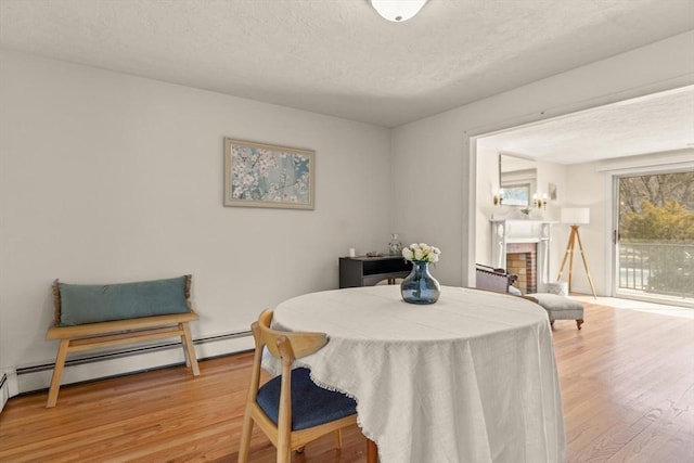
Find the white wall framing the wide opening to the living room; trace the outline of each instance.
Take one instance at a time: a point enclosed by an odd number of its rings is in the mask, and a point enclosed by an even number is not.
[[[441,248],[435,271],[441,282],[472,284],[476,156],[470,138],[691,85],[692,43],[694,31],[394,129],[394,228]]]

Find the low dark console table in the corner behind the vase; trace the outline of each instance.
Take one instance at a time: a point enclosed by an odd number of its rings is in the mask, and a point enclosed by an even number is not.
[[[382,280],[394,283],[397,278],[406,278],[411,270],[412,262],[402,256],[340,257],[339,287],[373,286]]]

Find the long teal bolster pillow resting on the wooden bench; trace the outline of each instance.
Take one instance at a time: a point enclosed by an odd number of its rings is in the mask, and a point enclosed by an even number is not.
[[[64,326],[188,313],[185,276],[121,284],[59,283]]]

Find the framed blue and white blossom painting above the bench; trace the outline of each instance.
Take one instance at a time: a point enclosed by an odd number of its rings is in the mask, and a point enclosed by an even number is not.
[[[224,206],[313,209],[316,152],[224,138]]]

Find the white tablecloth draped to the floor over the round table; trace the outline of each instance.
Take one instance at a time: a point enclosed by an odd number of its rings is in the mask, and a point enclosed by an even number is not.
[[[371,286],[286,300],[273,325],[329,335],[301,363],[357,400],[382,463],[564,461],[551,329],[536,304],[445,286],[416,306],[397,285]]]

